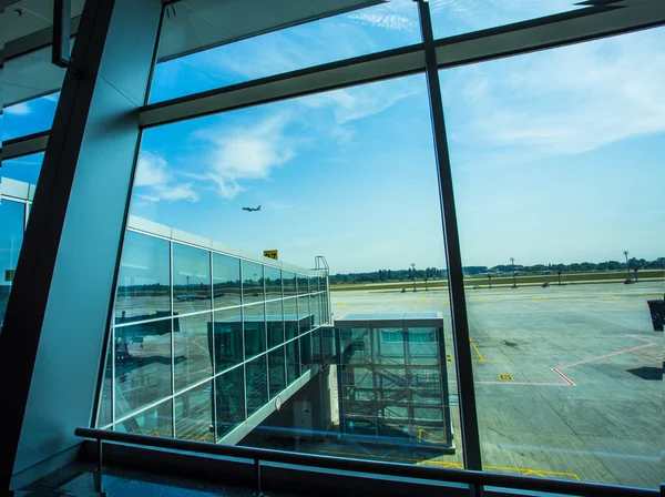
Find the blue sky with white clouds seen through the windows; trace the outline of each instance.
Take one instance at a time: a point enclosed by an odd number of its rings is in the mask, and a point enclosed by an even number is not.
[[[438,1],[434,31],[571,6]],[[665,255],[663,34],[440,73],[464,265]],[[161,64],[151,100],[418,40],[415,4],[392,2]],[[41,114],[27,105],[6,126]],[[147,130],[131,209],[254,252],[278,248],[303,266],[323,254],[334,273],[443,267],[424,78]]]

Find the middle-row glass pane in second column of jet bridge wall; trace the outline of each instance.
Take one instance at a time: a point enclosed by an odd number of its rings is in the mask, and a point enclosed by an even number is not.
[[[173,318],[175,389],[213,376],[211,313]]]

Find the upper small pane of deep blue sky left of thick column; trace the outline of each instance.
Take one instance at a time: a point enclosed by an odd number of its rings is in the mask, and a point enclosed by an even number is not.
[[[2,141],[51,128],[60,92],[2,109]]]

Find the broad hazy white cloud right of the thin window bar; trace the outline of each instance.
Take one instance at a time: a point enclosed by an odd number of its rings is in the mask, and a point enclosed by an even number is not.
[[[654,30],[444,72],[449,128],[524,159],[665,132],[664,52]]]

